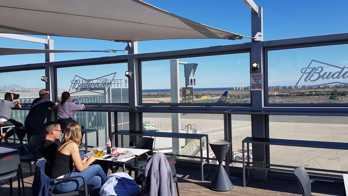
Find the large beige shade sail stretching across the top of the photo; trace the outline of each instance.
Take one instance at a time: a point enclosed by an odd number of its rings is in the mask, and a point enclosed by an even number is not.
[[[140,0],[1,0],[0,33],[114,41],[220,38],[238,34],[209,27]]]

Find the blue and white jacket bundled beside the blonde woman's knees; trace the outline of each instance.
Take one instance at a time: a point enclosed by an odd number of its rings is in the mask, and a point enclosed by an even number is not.
[[[140,193],[140,187],[127,173],[118,172],[109,176],[100,189],[100,195],[135,196]]]

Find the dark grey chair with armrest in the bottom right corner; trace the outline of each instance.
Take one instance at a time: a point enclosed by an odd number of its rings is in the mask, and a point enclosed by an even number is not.
[[[297,178],[297,181],[299,182],[301,193],[304,196],[310,196],[312,195],[312,188],[311,183],[314,182],[327,182],[327,183],[334,183],[333,180],[321,180],[321,179],[309,179],[309,175],[304,167],[298,167],[294,170],[294,174]],[[337,184],[339,185],[339,184]]]

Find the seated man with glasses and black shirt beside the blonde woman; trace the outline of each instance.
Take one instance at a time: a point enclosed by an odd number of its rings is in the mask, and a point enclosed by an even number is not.
[[[52,166],[54,154],[58,149],[59,137],[62,134],[61,124],[58,122],[47,122],[45,125],[45,139],[42,144],[41,154],[46,158],[47,163]],[[55,142],[56,141],[56,142]]]

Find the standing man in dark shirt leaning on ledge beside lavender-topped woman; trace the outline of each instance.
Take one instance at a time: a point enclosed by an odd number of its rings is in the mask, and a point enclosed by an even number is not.
[[[32,135],[44,135],[44,122],[46,120],[48,109],[58,110],[58,101],[53,103],[49,98],[49,91],[47,89],[41,89],[39,92],[39,98],[35,99],[31,104],[29,114],[25,119],[25,129],[27,131],[28,141]]]

